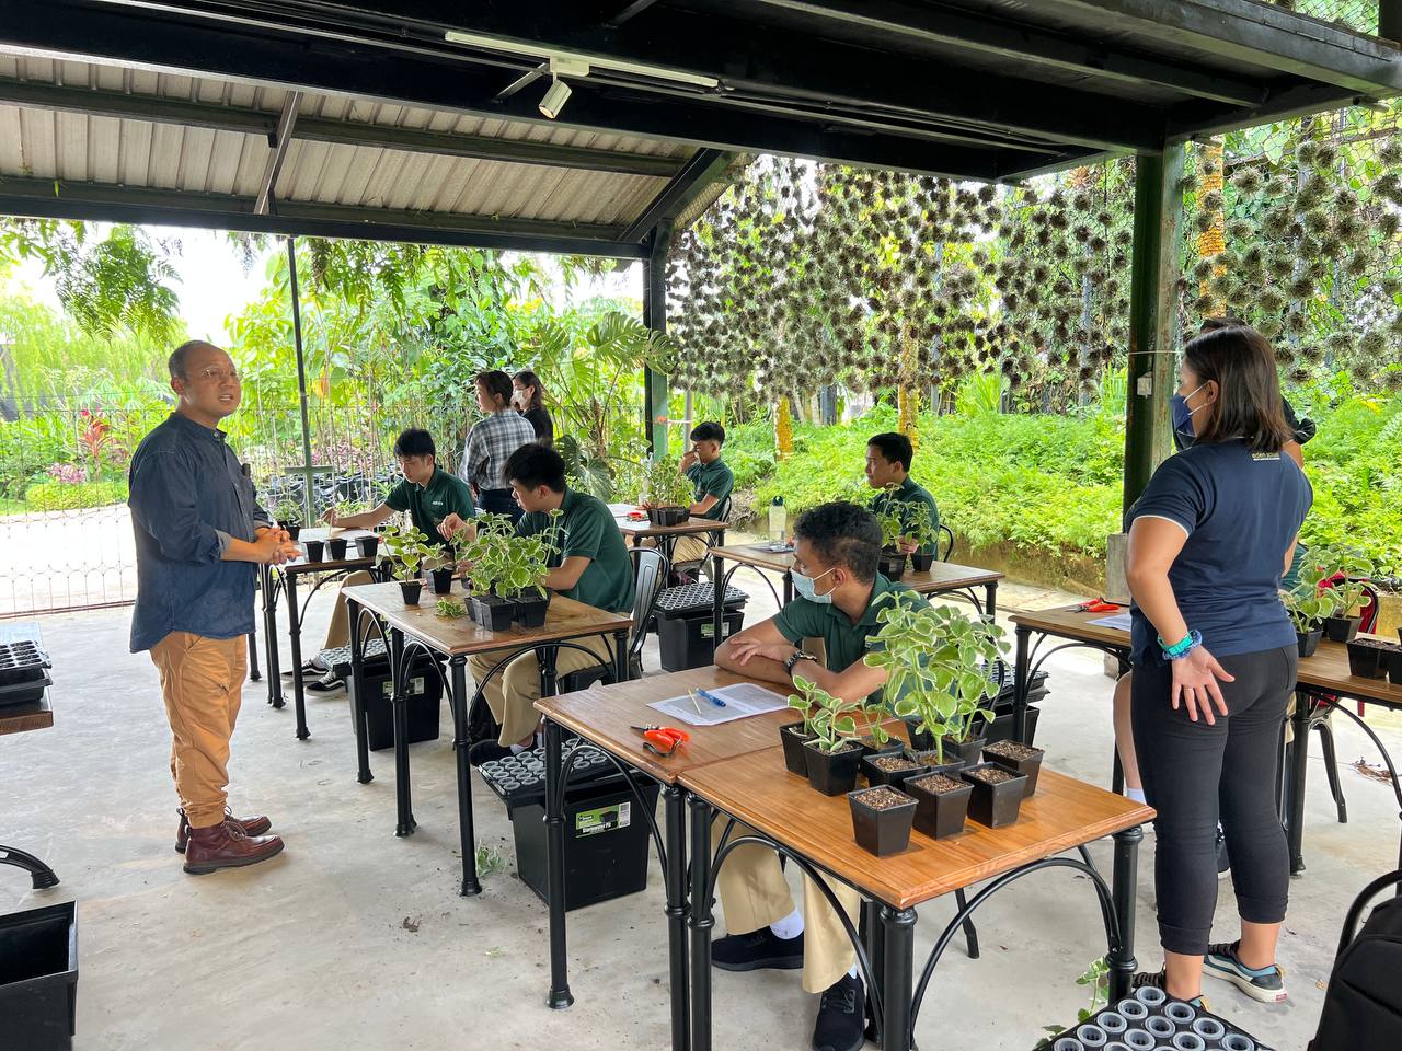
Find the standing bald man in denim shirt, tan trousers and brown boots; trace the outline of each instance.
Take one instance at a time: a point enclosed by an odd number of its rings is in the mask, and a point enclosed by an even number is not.
[[[175,849],[185,872],[200,874],[282,851],[279,837],[265,835],[266,817],[230,816],[226,788],[244,636],[254,631],[254,563],[282,563],[299,551],[258,506],[217,429],[243,399],[233,360],[193,341],[175,348],[170,373],[179,404],[132,457],[132,653],[150,650],[160,671],[181,803]]]

